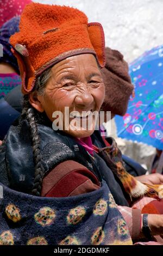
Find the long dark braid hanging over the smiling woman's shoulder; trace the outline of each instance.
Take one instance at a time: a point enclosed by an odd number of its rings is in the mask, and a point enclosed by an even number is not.
[[[43,180],[43,174],[45,173],[45,169],[42,165],[42,154],[40,150],[40,136],[37,129],[37,123],[35,118],[35,113],[33,107],[31,107],[28,95],[24,96],[23,102],[23,111],[22,115],[26,114],[27,121],[30,127],[30,134],[32,136],[33,142],[33,154],[34,154],[34,162],[35,162],[35,178],[34,185],[32,188],[32,194],[35,196],[41,195],[41,186]]]

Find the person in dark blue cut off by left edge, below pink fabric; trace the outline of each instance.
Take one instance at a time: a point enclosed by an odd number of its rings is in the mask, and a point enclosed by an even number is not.
[[[0,29],[0,44],[3,46],[3,56],[0,57],[0,140],[4,138],[13,120],[19,115],[15,107],[20,105],[18,102],[20,87],[18,86],[21,85],[21,77],[17,59],[12,54],[9,43],[10,36],[19,30],[19,22],[20,17],[13,17],[4,23]],[[8,94],[12,89],[16,89],[16,91],[14,90],[15,95],[14,92],[12,93],[11,106]]]

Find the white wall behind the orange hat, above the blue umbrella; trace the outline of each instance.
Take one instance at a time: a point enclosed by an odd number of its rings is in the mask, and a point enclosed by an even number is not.
[[[106,46],[120,50],[130,62],[145,50],[163,44],[163,0],[40,0],[83,10],[89,21],[101,22]]]

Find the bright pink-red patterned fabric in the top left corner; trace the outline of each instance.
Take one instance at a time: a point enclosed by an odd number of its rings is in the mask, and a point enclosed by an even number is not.
[[[0,0],[0,27],[12,17],[21,15],[26,4],[31,0]]]

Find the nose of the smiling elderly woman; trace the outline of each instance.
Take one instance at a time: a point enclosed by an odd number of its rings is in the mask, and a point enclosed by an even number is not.
[[[94,98],[90,90],[85,88],[82,92],[80,92],[79,95],[76,96],[74,101],[76,105],[87,107],[93,105]]]

